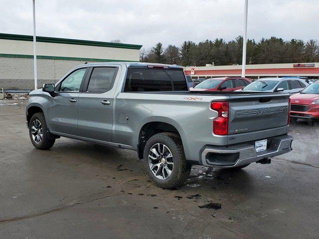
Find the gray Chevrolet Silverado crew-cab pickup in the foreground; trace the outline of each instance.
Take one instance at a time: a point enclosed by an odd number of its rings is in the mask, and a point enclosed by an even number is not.
[[[26,124],[37,149],[63,136],[135,150],[170,189],[191,165],[241,169],[290,152],[289,104],[278,92],[190,92],[181,66],[93,63],[30,92]]]

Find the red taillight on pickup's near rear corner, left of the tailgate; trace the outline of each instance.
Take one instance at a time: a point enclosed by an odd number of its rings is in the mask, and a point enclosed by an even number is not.
[[[210,108],[218,112],[218,117],[213,121],[213,133],[216,135],[228,134],[228,102],[211,102]]]

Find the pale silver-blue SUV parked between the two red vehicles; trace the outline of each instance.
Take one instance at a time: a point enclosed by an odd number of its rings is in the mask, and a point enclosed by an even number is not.
[[[242,91],[264,91],[264,92],[286,92],[296,94],[309,84],[299,78],[260,78],[246,87]]]

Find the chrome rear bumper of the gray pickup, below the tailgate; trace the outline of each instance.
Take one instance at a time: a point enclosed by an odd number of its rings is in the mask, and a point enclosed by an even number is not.
[[[202,165],[214,168],[234,168],[244,164],[250,164],[264,158],[286,154],[292,150],[293,136],[284,135],[274,137],[270,141],[267,150],[256,152],[253,143],[236,145],[231,147],[207,146],[202,150]]]

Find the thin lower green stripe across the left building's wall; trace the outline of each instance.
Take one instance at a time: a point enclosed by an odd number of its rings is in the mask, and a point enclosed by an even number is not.
[[[33,55],[19,55],[19,54],[2,54],[0,57],[14,57],[14,58],[32,58]],[[37,59],[50,59],[50,60],[79,60],[79,61],[98,61],[98,62],[110,62],[110,61],[122,61],[122,62],[138,62],[137,60],[113,60],[113,59],[98,59],[98,58],[82,58],[82,57],[68,57],[68,56],[50,56],[50,55],[37,55]]]

